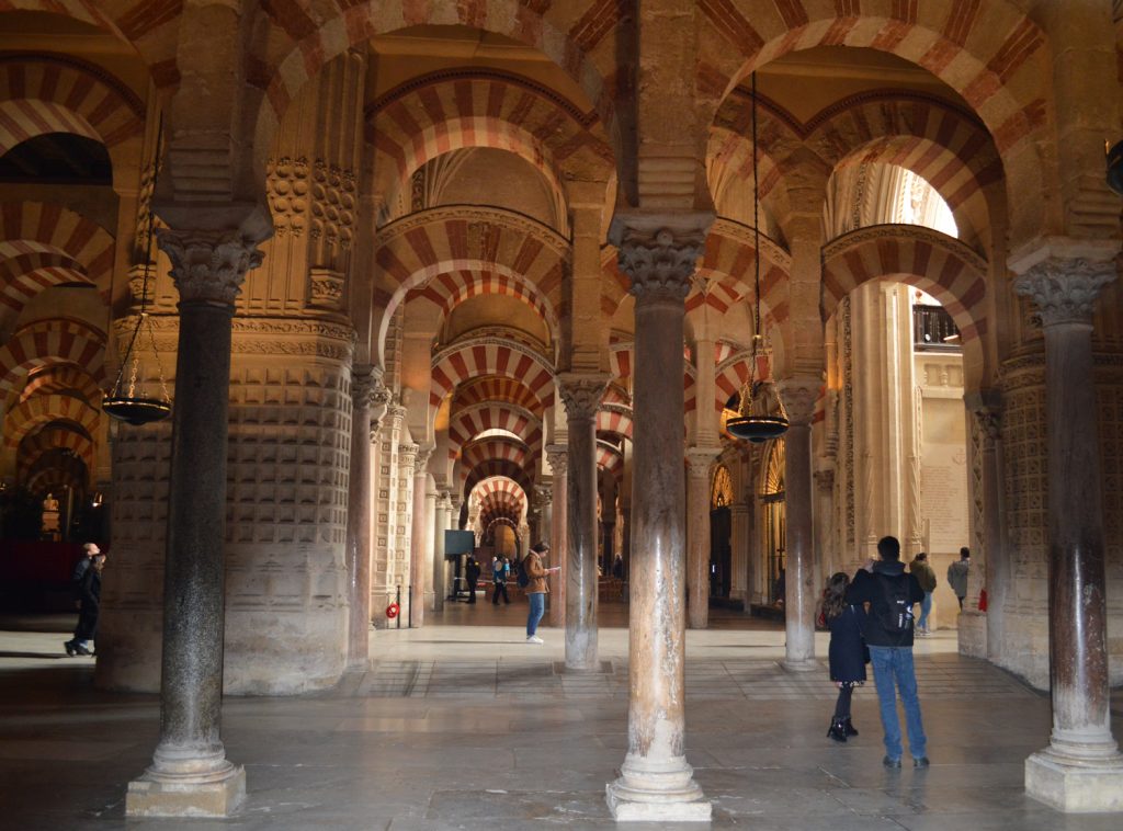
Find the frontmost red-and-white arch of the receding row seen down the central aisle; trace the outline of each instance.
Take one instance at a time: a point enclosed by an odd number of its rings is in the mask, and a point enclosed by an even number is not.
[[[485,338],[455,344],[433,356],[430,410],[436,413],[459,384],[483,375],[521,381],[538,399],[535,412],[554,403],[554,369],[546,358],[521,344]]]

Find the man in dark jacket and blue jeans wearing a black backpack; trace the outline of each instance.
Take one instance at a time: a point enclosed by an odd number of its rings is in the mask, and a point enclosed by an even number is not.
[[[905,573],[901,561],[901,542],[896,537],[883,537],[877,542],[880,561],[858,569],[847,603],[869,603],[866,621],[866,645],[874,667],[874,683],[882,709],[885,730],[885,767],[901,767],[901,721],[897,719],[897,691],[905,706],[905,725],[913,767],[928,767],[928,739],[920,715],[916,694],[916,669],[913,666],[913,604],[924,600],[924,590],[916,576]]]

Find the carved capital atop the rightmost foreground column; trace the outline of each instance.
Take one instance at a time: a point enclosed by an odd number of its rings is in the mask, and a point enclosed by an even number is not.
[[[1033,300],[1048,328],[1062,323],[1092,325],[1099,292],[1115,280],[1113,261],[1050,257],[1014,281],[1014,291]]]

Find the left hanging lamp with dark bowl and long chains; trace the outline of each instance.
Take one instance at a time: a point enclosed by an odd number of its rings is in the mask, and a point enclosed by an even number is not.
[[[156,197],[156,177],[159,171],[159,148],[163,134],[164,119],[161,116],[159,126],[156,129],[156,162],[153,164],[152,173],[152,199]],[[144,282],[140,287],[140,314],[137,318],[136,327],[133,329],[133,337],[129,339],[128,348],[121,358],[121,368],[117,372],[117,380],[113,382],[112,392],[101,402],[101,409],[108,416],[134,427],[150,424],[154,421],[163,421],[172,414],[172,396],[167,394],[167,383],[164,381],[164,366],[159,360],[159,351],[156,349],[156,334],[153,330],[152,318],[148,314],[148,274],[152,271],[154,225],[155,211],[152,208],[152,200],[149,200],[148,241],[145,249]],[[140,354],[137,341],[140,340],[141,330],[146,330],[148,343],[152,345],[152,354],[156,358],[161,398],[146,395],[144,384],[140,384],[139,387],[137,385],[137,376],[140,374]],[[125,384],[126,368],[129,369],[127,384]]]

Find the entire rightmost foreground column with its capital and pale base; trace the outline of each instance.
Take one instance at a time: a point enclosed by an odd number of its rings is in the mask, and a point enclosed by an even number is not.
[[[1050,257],[1014,283],[1041,310],[1049,446],[1049,651],[1053,727],[1025,760],[1025,792],[1060,811],[1123,811],[1112,737],[1104,517],[1092,311],[1114,262]]]

